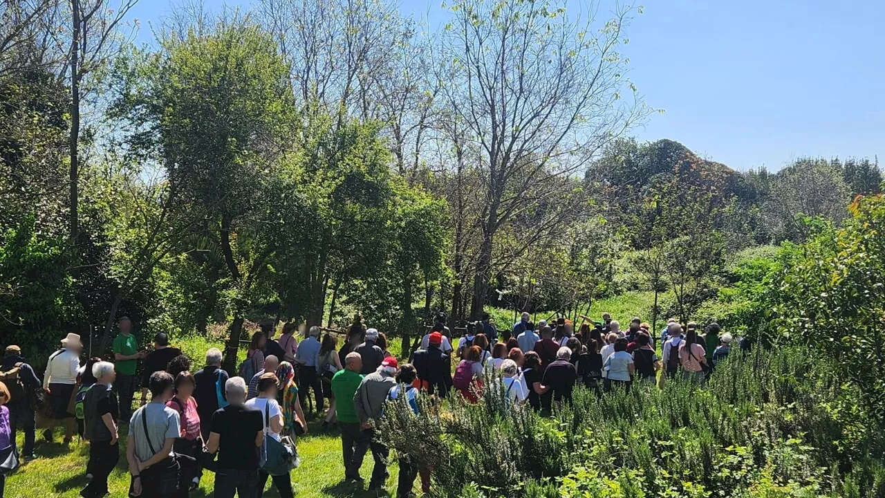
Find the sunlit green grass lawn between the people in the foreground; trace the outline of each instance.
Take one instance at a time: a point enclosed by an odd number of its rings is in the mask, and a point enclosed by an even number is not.
[[[378,494],[374,492],[370,494],[365,489],[360,490],[355,485],[342,482],[344,466],[338,432],[334,429],[319,432],[319,423],[320,421],[311,421],[308,434],[297,441],[301,466],[292,471],[295,495],[299,498],[377,496]],[[80,490],[86,486],[85,473],[86,462],[89,459],[89,445],[74,440],[69,447],[65,447],[59,442],[47,443],[39,436],[40,432],[36,447],[39,458],[22,465],[19,471],[6,479],[5,497],[79,498]],[[61,433],[58,430],[56,436],[57,441],[61,440]],[[19,447],[22,442],[19,432]],[[111,478],[108,479],[108,487],[114,498],[127,496],[129,490],[125,438],[120,440],[120,443],[120,460]],[[372,454],[366,453],[361,471],[366,483],[371,475],[372,466]],[[396,492],[396,469],[396,463],[391,462],[388,469],[390,478],[386,486],[391,495]],[[190,495],[197,498],[212,496],[214,479],[215,475],[212,472],[204,472],[200,488]],[[264,496],[273,498],[279,496],[270,480],[267,482]]]

